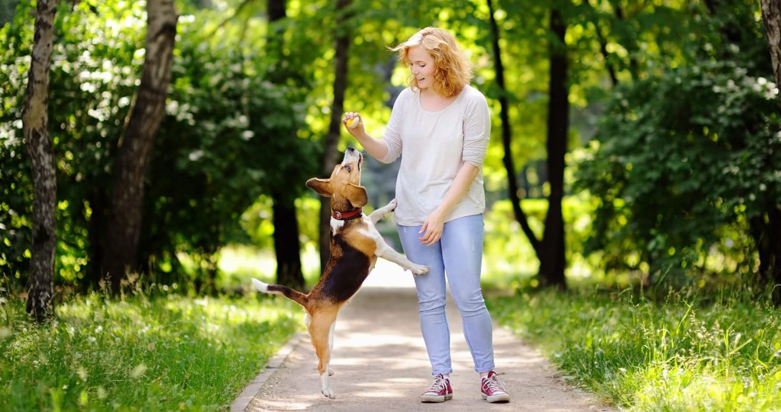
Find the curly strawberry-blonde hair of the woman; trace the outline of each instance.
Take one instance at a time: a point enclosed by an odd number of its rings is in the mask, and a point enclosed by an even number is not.
[[[455,37],[448,31],[437,27],[426,27],[409,37],[404,43],[391,48],[398,52],[401,64],[411,66],[409,49],[420,46],[429,53],[434,61],[433,89],[442,96],[451,98],[462,91],[473,78],[472,65],[465,59]],[[410,87],[419,88],[418,80],[410,73]]]

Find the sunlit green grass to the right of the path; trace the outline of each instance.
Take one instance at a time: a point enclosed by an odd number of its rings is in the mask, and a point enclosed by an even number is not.
[[[624,410],[781,410],[781,311],[738,293],[543,291],[491,314]]]

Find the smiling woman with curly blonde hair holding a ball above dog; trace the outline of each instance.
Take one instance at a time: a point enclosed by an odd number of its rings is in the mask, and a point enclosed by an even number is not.
[[[401,156],[394,214],[401,246],[411,261],[431,269],[415,276],[420,329],[434,377],[421,401],[444,402],[453,396],[444,311],[447,275],[480,374],[480,392],[488,402],[508,402],[510,396],[494,372],[493,328],[480,289],[485,210],[481,168],[490,138],[487,101],[469,86],[472,69],[448,31],[426,27],[391,51],[410,68],[410,77],[383,137],[370,137],[358,113],[345,113],[343,122],[380,162]]]

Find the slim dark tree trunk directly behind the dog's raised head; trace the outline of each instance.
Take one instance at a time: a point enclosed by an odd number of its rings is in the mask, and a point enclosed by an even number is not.
[[[334,58],[334,77],[333,77],[333,105],[331,106],[331,119],[328,127],[328,134],[323,144],[323,169],[322,176],[330,176],[333,165],[338,162],[337,144],[339,144],[339,135],[341,131],[341,116],[344,112],[344,90],[347,88],[347,58],[350,48],[350,33],[348,25],[348,8],[351,0],[337,0],[336,9],[336,56]],[[330,222],[331,222],[331,204],[328,198],[320,199],[320,270],[326,268],[328,257],[330,255]]]

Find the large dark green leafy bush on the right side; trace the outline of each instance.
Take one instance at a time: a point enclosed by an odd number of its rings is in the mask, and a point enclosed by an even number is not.
[[[748,72],[701,62],[619,87],[576,173],[598,198],[587,253],[677,280],[723,270],[715,254],[753,268],[747,219],[781,202],[781,123],[776,85]]]

